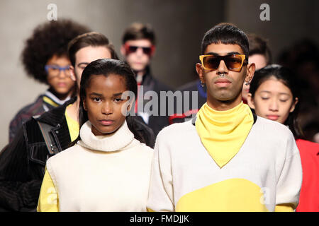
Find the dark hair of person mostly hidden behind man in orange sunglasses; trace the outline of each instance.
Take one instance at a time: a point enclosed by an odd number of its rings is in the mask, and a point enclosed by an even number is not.
[[[253,33],[247,34],[247,37],[250,44],[250,56],[261,54],[266,58],[267,65],[272,64],[272,52],[269,49],[268,40]]]

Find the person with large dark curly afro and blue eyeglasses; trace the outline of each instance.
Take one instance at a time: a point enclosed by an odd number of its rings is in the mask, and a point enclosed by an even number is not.
[[[23,122],[64,104],[72,97],[75,85],[69,69],[67,44],[85,32],[89,32],[86,26],[69,19],[59,19],[38,25],[26,40],[21,54],[24,69],[28,76],[49,85],[49,88],[35,102],[20,109],[11,120],[10,142]]]

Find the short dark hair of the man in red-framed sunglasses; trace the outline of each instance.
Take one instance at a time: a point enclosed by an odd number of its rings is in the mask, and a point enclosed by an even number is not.
[[[155,32],[150,24],[132,23],[126,28],[122,42],[123,44],[128,40],[150,40],[155,45]]]

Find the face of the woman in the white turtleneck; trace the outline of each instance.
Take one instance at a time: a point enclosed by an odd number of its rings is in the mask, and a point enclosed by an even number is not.
[[[122,108],[130,109],[127,106],[128,99],[121,98],[126,90],[122,76],[110,74],[107,77],[98,75],[91,78],[83,105],[95,136],[114,133],[122,126],[125,121]]]

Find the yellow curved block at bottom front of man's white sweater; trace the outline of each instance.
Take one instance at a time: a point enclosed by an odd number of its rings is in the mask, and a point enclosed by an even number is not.
[[[262,189],[247,179],[226,179],[182,196],[177,212],[266,212]]]

